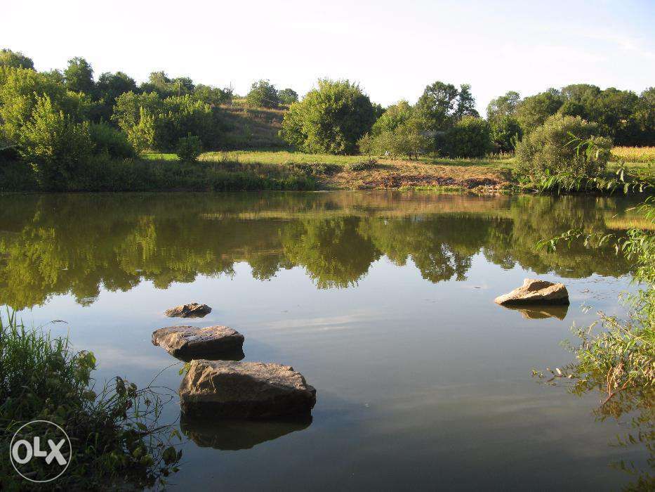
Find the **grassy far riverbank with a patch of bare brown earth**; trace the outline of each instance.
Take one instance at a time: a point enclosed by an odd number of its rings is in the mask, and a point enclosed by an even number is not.
[[[654,157],[655,158],[655,157]],[[631,173],[652,162],[627,162]],[[618,162],[610,162],[612,176]],[[0,191],[39,190],[29,166],[0,165]],[[72,176],[69,191],[256,191],[256,190],[435,190],[512,193],[533,190],[515,171],[511,155],[482,159],[423,156],[418,160],[288,151],[209,152],[198,162],[180,162],[173,153],[145,153],[112,160],[95,156],[84,173]]]

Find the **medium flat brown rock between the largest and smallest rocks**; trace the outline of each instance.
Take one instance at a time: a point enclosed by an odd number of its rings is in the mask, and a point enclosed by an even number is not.
[[[244,335],[227,326],[169,326],[152,332],[152,344],[183,359],[214,358],[225,354],[227,358],[241,360]]]

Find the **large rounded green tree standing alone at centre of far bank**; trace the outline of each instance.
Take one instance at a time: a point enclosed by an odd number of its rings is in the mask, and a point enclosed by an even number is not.
[[[284,114],[280,136],[305,152],[353,154],[374,117],[369,96],[357,84],[319,79],[318,87]]]

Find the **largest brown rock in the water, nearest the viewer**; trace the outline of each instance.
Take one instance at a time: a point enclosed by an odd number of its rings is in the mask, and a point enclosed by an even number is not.
[[[183,413],[242,419],[307,415],[316,390],[290,365],[191,361],[182,383]]]

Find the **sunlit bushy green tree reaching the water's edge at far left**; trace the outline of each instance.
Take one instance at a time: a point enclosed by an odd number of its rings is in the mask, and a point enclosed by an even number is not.
[[[37,98],[32,119],[20,129],[19,152],[42,188],[69,188],[91,148],[88,122],[73,122],[48,96]]]

